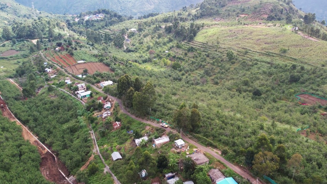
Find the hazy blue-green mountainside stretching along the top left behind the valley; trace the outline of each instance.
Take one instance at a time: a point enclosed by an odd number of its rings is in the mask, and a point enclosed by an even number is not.
[[[17,2],[38,10],[58,14],[79,14],[96,9],[111,9],[120,14],[139,16],[151,12],[168,12],[181,9],[201,0],[16,0]]]

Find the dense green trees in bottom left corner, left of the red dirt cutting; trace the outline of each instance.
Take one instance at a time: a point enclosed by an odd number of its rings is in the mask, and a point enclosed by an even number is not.
[[[3,86],[1,85],[1,88]],[[50,184],[40,172],[41,157],[22,137],[22,128],[0,116],[0,181],[2,184]]]

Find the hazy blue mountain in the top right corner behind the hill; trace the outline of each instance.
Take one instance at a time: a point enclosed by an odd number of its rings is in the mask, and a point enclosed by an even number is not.
[[[316,13],[317,20],[327,20],[326,0],[296,0],[295,6],[306,13]]]

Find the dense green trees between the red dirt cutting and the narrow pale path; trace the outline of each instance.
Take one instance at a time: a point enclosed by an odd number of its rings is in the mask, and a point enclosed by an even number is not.
[[[88,128],[82,116],[83,106],[72,97],[55,90],[43,89],[34,98],[22,101],[20,92],[8,81],[0,81],[0,90],[14,116],[36,135],[43,143],[57,152],[69,172],[75,173],[91,151]],[[54,96],[50,98],[49,93]]]

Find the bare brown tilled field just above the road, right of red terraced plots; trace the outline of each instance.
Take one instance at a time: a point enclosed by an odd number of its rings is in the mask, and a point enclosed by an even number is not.
[[[105,64],[103,63],[79,63],[79,64],[74,64],[72,66],[67,67],[67,70],[75,75],[79,75],[83,73],[84,69],[88,70],[88,74],[94,74],[95,71],[99,72],[112,72],[113,71]]]

